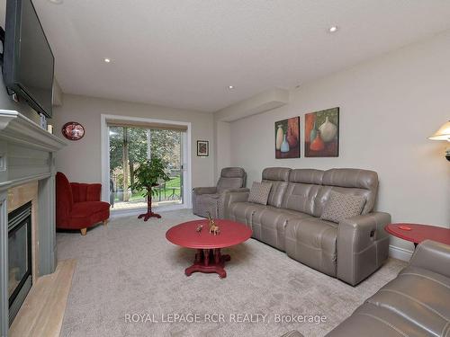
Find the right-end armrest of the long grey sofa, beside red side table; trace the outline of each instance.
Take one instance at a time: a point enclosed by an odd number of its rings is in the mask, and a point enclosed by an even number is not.
[[[374,212],[342,220],[338,227],[338,279],[355,286],[388,258],[388,213]]]

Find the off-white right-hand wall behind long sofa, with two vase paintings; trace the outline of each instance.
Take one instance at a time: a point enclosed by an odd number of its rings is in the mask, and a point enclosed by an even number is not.
[[[230,164],[247,170],[247,185],[267,166],[371,169],[380,178],[377,208],[394,222],[449,226],[446,143],[427,137],[450,119],[450,31],[304,84],[290,96],[284,107],[231,123]],[[275,159],[275,121],[300,116],[303,134],[306,112],[337,106],[338,158],[305,158],[302,146],[300,159]],[[400,239],[392,244],[412,249]]]

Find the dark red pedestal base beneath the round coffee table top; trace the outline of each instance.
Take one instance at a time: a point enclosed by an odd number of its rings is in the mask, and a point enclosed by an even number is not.
[[[220,279],[227,277],[224,269],[225,262],[231,260],[229,254],[222,255],[220,248],[216,249],[198,249],[195,253],[195,261],[193,265],[184,270],[186,276],[191,276],[193,272],[216,272]]]

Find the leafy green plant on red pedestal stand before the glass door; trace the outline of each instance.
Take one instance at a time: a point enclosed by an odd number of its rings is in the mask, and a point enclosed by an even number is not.
[[[157,213],[151,210],[151,197],[157,194],[153,189],[159,185],[159,182],[167,182],[170,178],[166,173],[166,163],[157,156],[151,156],[150,159],[139,163],[139,167],[134,172],[136,181],[132,184],[131,189],[136,191],[143,191],[142,196],[147,198],[147,213],[140,214],[138,218],[143,217],[147,221],[150,217],[160,218]]]

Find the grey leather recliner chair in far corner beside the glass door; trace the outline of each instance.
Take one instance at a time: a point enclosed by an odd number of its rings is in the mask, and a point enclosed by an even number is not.
[[[225,167],[220,172],[219,182],[213,187],[193,189],[193,214],[199,217],[223,218],[225,194],[230,191],[247,192],[247,173],[241,167]]]

